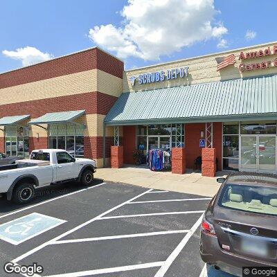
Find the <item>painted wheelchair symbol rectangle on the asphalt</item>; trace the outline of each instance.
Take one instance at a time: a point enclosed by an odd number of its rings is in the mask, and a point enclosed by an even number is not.
[[[41,213],[30,213],[0,225],[0,239],[18,245],[66,222]]]

